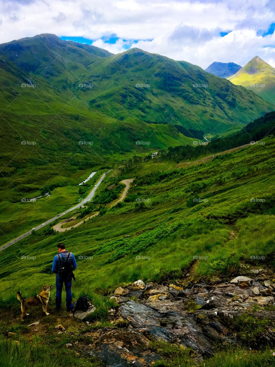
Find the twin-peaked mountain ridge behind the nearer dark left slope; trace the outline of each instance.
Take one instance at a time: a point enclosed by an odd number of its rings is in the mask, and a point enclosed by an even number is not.
[[[33,79],[43,77],[66,101],[78,99],[83,113],[219,133],[271,110],[252,92],[198,66],[137,48],[110,56],[41,34],[2,44],[0,52]]]

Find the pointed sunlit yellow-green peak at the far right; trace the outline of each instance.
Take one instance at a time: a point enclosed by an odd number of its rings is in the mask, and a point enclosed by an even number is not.
[[[233,84],[253,90],[269,103],[275,103],[275,68],[258,56],[247,62],[228,80]]]

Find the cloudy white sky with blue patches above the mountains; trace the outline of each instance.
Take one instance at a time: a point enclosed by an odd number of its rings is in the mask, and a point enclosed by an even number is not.
[[[275,67],[275,0],[0,0],[0,43],[40,33],[203,69],[254,56]]]

